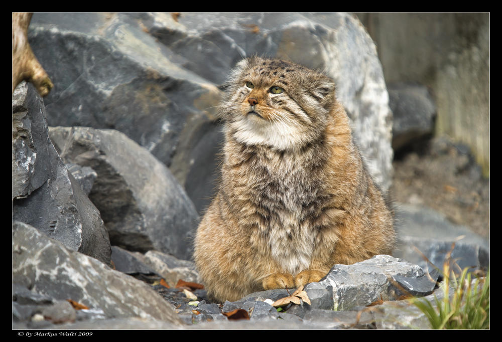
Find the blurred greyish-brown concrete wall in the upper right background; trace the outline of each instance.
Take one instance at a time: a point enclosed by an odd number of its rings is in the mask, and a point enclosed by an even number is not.
[[[355,13],[375,41],[387,84],[418,82],[436,100],[436,134],[471,146],[489,176],[490,16]]]

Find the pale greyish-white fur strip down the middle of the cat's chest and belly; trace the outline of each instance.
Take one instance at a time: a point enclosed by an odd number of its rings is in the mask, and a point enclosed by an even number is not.
[[[297,153],[266,151],[256,162],[255,177],[263,187],[254,196],[269,213],[261,243],[285,272],[297,274],[311,263],[317,232],[308,221],[309,204],[316,202],[311,191],[316,181],[308,172],[308,162]],[[260,175],[260,176],[259,176]]]

